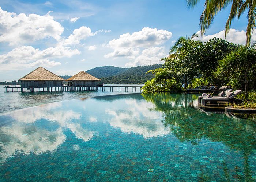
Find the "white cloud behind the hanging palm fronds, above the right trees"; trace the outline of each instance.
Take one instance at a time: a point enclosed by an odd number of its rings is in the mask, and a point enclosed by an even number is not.
[[[201,35],[201,32],[198,31],[197,34]],[[213,35],[203,35],[202,37],[199,36],[199,39],[205,42],[205,41],[208,41],[208,40],[210,40],[210,39],[212,39],[214,37],[224,39],[224,37],[225,37],[225,30],[222,30],[222,31],[220,31],[218,33],[215,33]],[[235,44],[245,45],[246,44],[246,32],[244,30],[239,31],[239,30],[231,28],[229,30],[229,33],[226,36],[226,40],[229,41],[229,42],[235,43]],[[252,41],[256,40],[255,33],[252,35],[252,39],[251,40]]]

